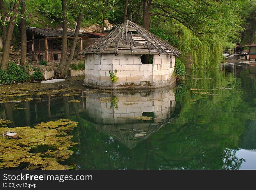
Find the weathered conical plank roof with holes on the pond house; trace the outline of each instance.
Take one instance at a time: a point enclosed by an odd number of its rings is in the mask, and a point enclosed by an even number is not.
[[[167,54],[178,56],[182,52],[145,28],[126,21],[80,54]]]

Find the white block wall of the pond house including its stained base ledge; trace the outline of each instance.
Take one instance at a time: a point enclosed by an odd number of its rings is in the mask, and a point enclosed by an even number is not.
[[[88,54],[85,57],[84,85],[97,88],[158,88],[174,82],[175,56],[153,55],[153,64],[142,64],[141,55]],[[111,83],[109,71],[117,70]]]

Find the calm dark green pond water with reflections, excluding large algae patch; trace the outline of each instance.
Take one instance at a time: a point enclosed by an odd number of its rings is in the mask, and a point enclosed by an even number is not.
[[[60,83],[1,103],[0,118],[10,127],[79,122],[79,144],[61,162],[75,169],[256,169],[256,64],[187,73],[175,88],[129,93]]]

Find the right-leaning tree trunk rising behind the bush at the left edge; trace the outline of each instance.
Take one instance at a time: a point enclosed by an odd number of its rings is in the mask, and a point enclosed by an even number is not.
[[[15,19],[18,14],[18,7],[19,7],[19,1],[15,1],[15,4],[13,6],[13,16],[10,17],[10,22],[8,25],[8,30],[6,34],[6,39],[3,47],[3,56],[2,56],[2,65],[1,69],[5,70],[7,68],[7,62],[9,59],[9,48],[11,45],[11,40],[13,36],[13,29],[15,25]]]

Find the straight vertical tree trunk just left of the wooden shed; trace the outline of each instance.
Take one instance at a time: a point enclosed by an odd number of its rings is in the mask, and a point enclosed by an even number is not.
[[[26,70],[26,20],[25,20],[25,0],[20,0],[20,28],[21,28],[21,53],[20,65]]]

